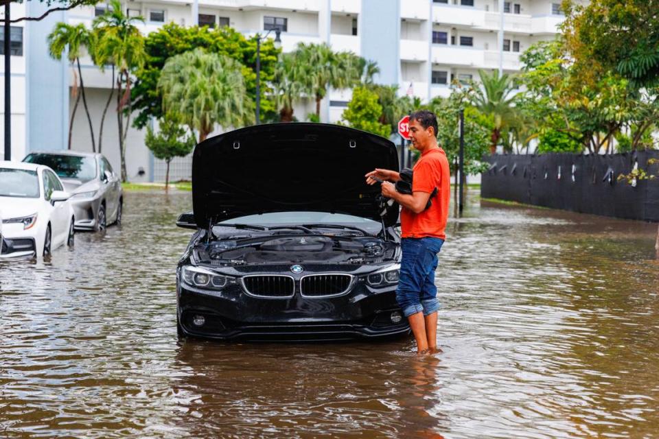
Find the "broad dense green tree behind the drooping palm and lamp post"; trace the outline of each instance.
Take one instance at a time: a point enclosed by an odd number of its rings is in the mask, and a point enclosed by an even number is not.
[[[247,39],[231,27],[222,26],[216,29],[203,27],[183,27],[168,23],[156,32],[151,32],[145,41],[148,55],[143,68],[137,72],[137,82],[132,88],[133,108],[138,111],[135,126],[143,128],[150,119],[163,116],[162,96],[158,90],[158,82],[167,59],[203,48],[208,53],[219,54],[233,58],[242,64],[241,71],[248,95],[248,100],[256,99],[256,40]],[[268,84],[273,82],[275,66],[280,49],[277,49],[270,38],[261,44],[261,93],[270,94]],[[275,116],[274,99],[261,99],[261,114],[264,120]]]

